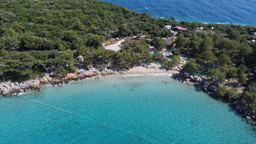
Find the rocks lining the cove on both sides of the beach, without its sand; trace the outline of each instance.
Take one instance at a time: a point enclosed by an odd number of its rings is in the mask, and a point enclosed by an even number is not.
[[[137,67],[135,67],[136,69]],[[139,68],[138,68],[139,69]],[[127,74],[130,70],[115,70],[115,69],[107,69],[104,70],[97,70],[96,68],[91,68],[91,70],[84,71],[82,74],[78,73],[69,73],[66,74],[63,77],[50,77],[50,74],[47,74],[46,76],[40,78],[40,79],[32,79],[25,82],[20,83],[13,83],[13,82],[2,82],[0,84],[0,95],[3,96],[12,96],[12,95],[19,95],[30,91],[40,91],[41,85],[58,85],[63,86],[64,83],[69,83],[69,81],[72,80],[84,80],[86,78],[90,77],[96,77],[97,76],[108,76],[108,75],[114,75],[114,74]],[[141,71],[141,70],[138,70]],[[138,72],[133,71],[133,72]],[[155,69],[151,69],[147,71],[151,71],[156,73]],[[145,71],[144,71],[145,72]],[[161,70],[162,72],[167,72],[165,70]],[[173,71],[172,71],[173,72]],[[173,76],[177,79],[179,79],[181,82],[187,82],[189,80],[193,85],[199,86],[201,89],[203,89],[204,92],[211,95],[212,97],[216,98],[222,98],[223,100],[227,101],[227,103],[231,103],[233,107],[237,109],[237,112],[241,113],[246,119],[248,119],[248,123],[256,125],[256,114],[255,110],[250,110],[246,107],[246,103],[243,103],[243,100],[231,97],[230,95],[226,95],[225,97],[219,97],[216,95],[216,92],[213,91],[213,89],[210,89],[210,87],[215,88],[212,83],[210,82],[202,82],[202,80],[195,80],[193,76],[186,76],[186,74],[180,73],[177,74],[177,71],[175,73],[171,73]]]

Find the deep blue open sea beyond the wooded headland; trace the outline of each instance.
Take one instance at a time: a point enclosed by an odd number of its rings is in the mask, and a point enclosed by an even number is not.
[[[103,0],[130,10],[187,22],[233,23],[256,26],[255,0]]]

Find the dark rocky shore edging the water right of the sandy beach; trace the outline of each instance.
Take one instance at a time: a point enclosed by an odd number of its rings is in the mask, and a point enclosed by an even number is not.
[[[180,82],[187,82],[189,81],[194,85],[200,87],[204,92],[209,94],[212,97],[220,98],[227,103],[230,103],[238,113],[242,114],[244,118],[246,118],[249,124],[256,125],[256,113],[255,110],[248,109],[246,107],[246,103],[243,102],[243,99],[231,97],[231,95],[225,94],[225,97],[219,97],[213,89],[210,89],[210,86],[214,86],[213,83],[210,82],[202,82],[201,80],[193,79],[193,76],[185,76],[184,73],[174,74],[175,78],[180,80]],[[216,86],[215,86],[216,87]]]

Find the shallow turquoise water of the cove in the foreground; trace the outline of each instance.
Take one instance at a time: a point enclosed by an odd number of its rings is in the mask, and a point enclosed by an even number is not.
[[[228,104],[168,76],[103,77],[61,88],[43,86],[39,93],[1,97],[0,106],[0,143],[256,141],[252,126]]]

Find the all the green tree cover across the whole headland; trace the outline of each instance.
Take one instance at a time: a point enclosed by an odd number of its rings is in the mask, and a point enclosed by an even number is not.
[[[178,33],[178,49],[172,50],[176,55],[172,61],[148,51],[148,44],[159,50],[165,48],[162,38],[156,38],[173,35],[165,25],[188,28],[187,32]],[[191,31],[200,26],[204,32]],[[210,30],[212,27],[214,31]],[[189,59],[184,71],[193,73],[203,68],[218,83],[237,77],[247,86],[244,100],[249,107],[255,107],[256,43],[249,42],[255,39],[249,35],[254,31],[255,26],[177,22],[174,17],[159,19],[95,0],[1,0],[1,81],[35,79],[44,76],[46,67],[61,76],[77,70],[74,62],[79,55],[84,57],[85,67],[131,68],[139,59],[163,61],[171,67],[178,63],[177,55],[182,53],[195,58]],[[109,38],[142,34],[153,41],[125,41],[120,52],[101,47]],[[220,85],[219,95],[225,91]]]

